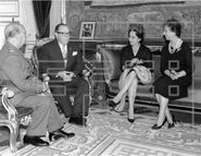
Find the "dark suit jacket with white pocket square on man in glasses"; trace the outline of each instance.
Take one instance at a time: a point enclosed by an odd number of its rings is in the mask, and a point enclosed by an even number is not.
[[[83,72],[83,55],[77,44],[68,43],[67,45],[67,63],[64,65],[64,59],[56,39],[43,45],[38,49],[39,72],[48,73],[51,80],[59,80],[55,77],[59,71],[72,71],[76,75]]]

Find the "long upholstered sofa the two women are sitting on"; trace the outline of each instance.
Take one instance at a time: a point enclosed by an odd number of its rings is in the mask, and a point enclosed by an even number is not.
[[[103,43],[97,46],[97,52],[102,56],[104,80],[109,86],[110,93],[118,92],[118,79],[122,73],[120,69],[121,60],[121,49],[125,45],[115,44],[115,43]],[[156,100],[153,95],[152,83],[160,75],[160,52],[162,45],[147,45],[152,51],[153,59],[153,72],[152,72],[152,82],[148,85],[140,84],[137,89],[136,104],[146,105],[149,107],[158,107]],[[193,48],[193,80],[192,85],[189,87],[189,96],[180,98],[174,101],[169,101],[172,109],[177,109],[179,111],[188,111],[193,113],[201,115],[201,51],[200,47]]]

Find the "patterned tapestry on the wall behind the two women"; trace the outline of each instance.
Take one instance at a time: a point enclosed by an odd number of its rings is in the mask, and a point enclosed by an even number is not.
[[[129,23],[142,23],[147,38],[161,38],[163,23],[176,17],[183,24],[183,38],[201,38],[201,2],[172,4],[85,5],[84,1],[68,1],[67,22],[73,37],[78,38],[80,21],[96,21],[95,39],[123,39],[127,37]]]

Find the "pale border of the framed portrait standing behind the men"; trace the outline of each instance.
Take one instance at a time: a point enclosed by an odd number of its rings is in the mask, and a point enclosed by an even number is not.
[[[84,26],[87,24],[92,25],[91,31],[89,32],[90,36],[83,36],[84,31],[85,31]],[[96,27],[96,22],[93,22],[93,21],[81,22],[80,29],[79,29],[79,39],[93,39],[95,38],[95,27]]]

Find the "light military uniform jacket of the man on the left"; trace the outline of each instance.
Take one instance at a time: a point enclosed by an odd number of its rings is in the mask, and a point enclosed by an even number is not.
[[[13,105],[24,97],[42,93],[42,82],[33,74],[33,65],[12,44],[7,41],[0,50],[1,85],[14,92]]]

